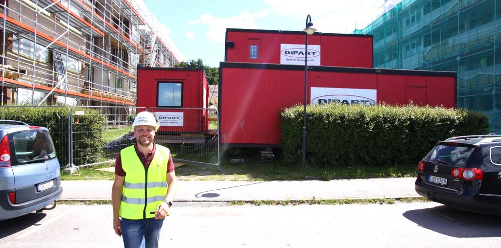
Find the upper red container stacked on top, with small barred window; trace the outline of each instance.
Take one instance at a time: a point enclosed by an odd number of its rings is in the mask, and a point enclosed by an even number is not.
[[[282,59],[297,59],[305,50],[306,33],[258,29],[226,29],[224,61],[251,63],[287,63]],[[255,58],[249,56],[250,46],[257,49]],[[310,65],[373,67],[372,35],[317,32],[308,36]],[[294,63],[293,61],[291,63]],[[303,64],[304,59],[295,64]]]

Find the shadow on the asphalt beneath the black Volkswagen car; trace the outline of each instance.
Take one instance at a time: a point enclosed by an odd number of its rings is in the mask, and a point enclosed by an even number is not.
[[[403,216],[421,227],[452,237],[501,236],[501,216],[462,211],[444,205],[409,210]]]

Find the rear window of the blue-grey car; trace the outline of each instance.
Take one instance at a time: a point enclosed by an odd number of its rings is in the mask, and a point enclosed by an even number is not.
[[[54,144],[45,130],[25,130],[10,134],[14,143],[11,157],[13,165],[25,164],[56,157]]]

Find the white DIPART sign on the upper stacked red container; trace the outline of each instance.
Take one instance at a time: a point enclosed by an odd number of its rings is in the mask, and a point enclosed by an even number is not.
[[[305,51],[303,44],[280,44],[281,64],[305,65],[305,57],[308,55],[308,65],[320,65],[320,45],[308,45]]]

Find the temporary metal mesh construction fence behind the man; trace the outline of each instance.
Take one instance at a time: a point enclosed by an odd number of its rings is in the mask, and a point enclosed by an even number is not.
[[[78,168],[114,162],[122,148],[134,144],[132,122],[146,110],[160,124],[155,143],[168,147],[175,162],[219,167],[218,113],[213,108],[1,106],[0,119],[49,128],[61,166]]]

